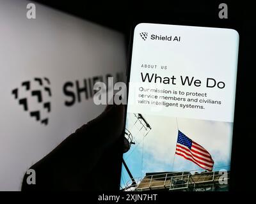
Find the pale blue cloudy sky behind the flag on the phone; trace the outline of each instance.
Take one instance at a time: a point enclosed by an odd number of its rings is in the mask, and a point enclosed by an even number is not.
[[[124,154],[124,160],[134,178],[143,177],[149,172],[204,171],[191,161],[175,156],[178,126],[182,133],[210,152],[214,167],[218,170],[229,168],[227,165],[230,164],[232,123],[178,118],[177,126],[176,118],[173,117],[145,114],[143,117],[152,127],[145,137],[147,131],[139,131],[141,126],[138,122],[134,126],[136,118],[133,113],[127,113],[126,128],[131,131],[136,144]],[[128,180],[129,175],[122,168],[121,186],[124,187]]]

